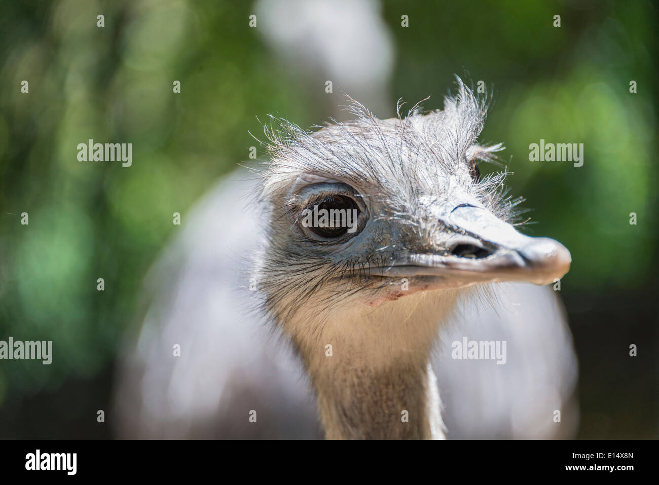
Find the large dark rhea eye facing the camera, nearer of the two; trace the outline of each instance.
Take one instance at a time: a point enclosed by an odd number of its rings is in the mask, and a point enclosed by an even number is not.
[[[359,206],[352,198],[330,195],[303,210],[301,223],[322,238],[335,239],[355,232],[359,213]]]

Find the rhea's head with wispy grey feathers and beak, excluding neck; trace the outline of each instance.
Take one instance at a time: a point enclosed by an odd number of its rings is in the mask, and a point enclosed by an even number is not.
[[[505,196],[506,174],[480,177],[478,163],[502,148],[477,143],[486,105],[458,84],[442,111],[425,115],[380,120],[353,103],[355,121],[315,133],[268,127],[268,243],[257,274],[275,315],[306,307],[322,318],[336,306],[497,281],[544,285],[567,272],[562,244],[515,229],[521,199]],[[314,208],[357,219],[310,227]]]

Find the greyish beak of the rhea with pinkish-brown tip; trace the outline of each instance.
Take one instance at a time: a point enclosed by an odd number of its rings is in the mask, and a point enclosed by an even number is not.
[[[471,204],[448,206],[438,216],[452,231],[442,254],[410,254],[395,266],[382,268],[389,277],[446,277],[451,286],[493,281],[527,281],[546,285],[570,268],[563,244],[529,237]]]

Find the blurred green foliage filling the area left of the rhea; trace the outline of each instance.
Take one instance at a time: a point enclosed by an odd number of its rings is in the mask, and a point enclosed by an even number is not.
[[[246,159],[248,130],[262,132],[256,115],[305,121],[294,80],[245,28],[248,7],[0,7],[0,339],[53,340],[57,355],[50,366],[3,361],[0,392],[56,388],[107,365],[144,273],[177,229],[172,214],[185,217]],[[81,163],[76,147],[89,138],[132,142],[135,162]]]

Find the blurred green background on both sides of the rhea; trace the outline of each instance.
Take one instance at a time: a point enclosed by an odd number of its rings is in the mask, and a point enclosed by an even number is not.
[[[395,115],[398,98],[431,95],[424,108],[442,107],[453,74],[494,86],[482,140],[507,147],[511,193],[537,221],[527,230],[573,257],[561,296],[580,362],[579,437],[658,437],[656,6],[385,1],[375,10],[393,45],[376,115]],[[55,353],[50,366],[0,361],[0,438],[112,436],[96,410],[110,409],[118,346],[136,324],[146,270],[179,230],[173,212],[185,217],[248,159],[257,117],[306,127],[343,116],[331,111],[345,103],[341,79],[326,94],[331,72],[293,67],[260,34],[267,19],[248,27],[253,11],[185,0],[0,5],[0,339],[53,340]],[[131,142],[132,167],[78,161],[89,138]],[[541,138],[583,143],[583,167],[530,162]]]

